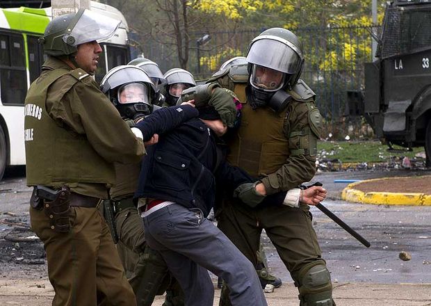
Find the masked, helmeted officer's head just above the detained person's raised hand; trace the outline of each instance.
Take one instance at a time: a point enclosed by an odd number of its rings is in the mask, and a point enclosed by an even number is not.
[[[196,86],[193,75],[187,70],[181,68],[172,68],[168,70],[163,77],[166,80],[165,84],[165,105],[175,105],[181,97],[183,90]]]

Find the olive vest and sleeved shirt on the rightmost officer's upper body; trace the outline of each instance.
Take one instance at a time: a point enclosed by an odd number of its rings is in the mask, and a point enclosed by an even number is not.
[[[217,81],[234,91],[244,107],[238,137],[229,142],[234,150],[227,160],[251,175],[263,176],[261,182],[268,195],[309,182],[316,173],[317,133],[320,133],[318,128],[311,127],[311,110],[318,113],[314,99],[293,99],[286,110],[277,115],[269,108],[252,111],[245,95],[246,83],[224,82],[226,79],[227,76]],[[233,156],[238,154],[235,150],[243,152],[239,153],[242,156]],[[252,164],[257,164],[258,168],[250,166]]]

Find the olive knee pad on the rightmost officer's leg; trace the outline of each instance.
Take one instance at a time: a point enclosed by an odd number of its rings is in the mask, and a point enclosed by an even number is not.
[[[322,261],[302,267],[298,289],[300,306],[334,306],[330,271]]]

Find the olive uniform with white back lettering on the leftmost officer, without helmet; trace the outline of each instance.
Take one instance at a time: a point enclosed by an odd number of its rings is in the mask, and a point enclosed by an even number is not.
[[[27,184],[70,188],[60,232],[43,209],[31,207],[31,227],[44,243],[52,305],[136,305],[104,218],[95,202],[115,182],[113,162],[136,163],[145,153],[117,110],[81,69],[49,57],[26,97]],[[73,197],[72,197],[73,196]]]

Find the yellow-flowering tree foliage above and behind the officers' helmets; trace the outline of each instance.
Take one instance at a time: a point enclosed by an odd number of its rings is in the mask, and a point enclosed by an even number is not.
[[[371,26],[371,0],[103,0],[120,9],[137,33],[137,43],[147,54],[163,54],[172,65],[184,69],[193,63],[217,67],[227,54],[241,54],[226,38],[211,48],[216,51],[195,58],[196,33],[284,27],[330,29]],[[379,22],[383,7],[379,7]],[[317,30],[316,30],[317,31]],[[323,31],[323,30],[319,30]],[[368,34],[366,34],[368,35]],[[301,37],[302,38],[302,37]],[[322,36],[307,42],[309,64],[321,70],[342,69],[361,56],[371,54],[371,46],[353,41],[345,33]],[[247,45],[248,42],[245,42]],[[157,47],[154,46],[163,46]],[[234,50],[234,51],[232,51]],[[191,53],[190,53],[191,52]],[[318,54],[318,56],[313,56]],[[341,56],[342,54],[342,56]],[[362,55],[361,55],[362,54]],[[365,55],[364,55],[365,54]],[[197,60],[197,62],[196,62]]]

